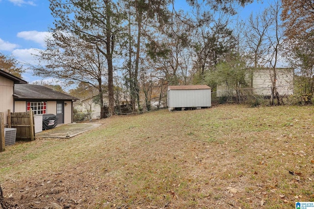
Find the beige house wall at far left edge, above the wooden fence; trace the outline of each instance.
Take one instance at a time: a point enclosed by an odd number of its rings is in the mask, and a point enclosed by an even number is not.
[[[4,124],[8,120],[8,110],[13,112],[14,82],[0,75],[0,112],[4,113]]]

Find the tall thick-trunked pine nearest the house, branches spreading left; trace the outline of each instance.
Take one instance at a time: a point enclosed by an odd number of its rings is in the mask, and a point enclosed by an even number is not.
[[[125,15],[113,0],[50,0],[54,20],[53,32],[63,31],[90,43],[107,62],[109,115],[114,113],[113,57],[121,35]]]

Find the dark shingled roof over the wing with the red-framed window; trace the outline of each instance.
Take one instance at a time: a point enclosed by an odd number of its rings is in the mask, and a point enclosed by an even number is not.
[[[54,91],[45,86],[32,84],[14,85],[13,97],[17,99],[78,100],[74,96]]]

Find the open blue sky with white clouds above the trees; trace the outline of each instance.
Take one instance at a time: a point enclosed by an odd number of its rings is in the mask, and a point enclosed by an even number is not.
[[[177,0],[183,6],[185,0]],[[268,3],[267,3],[268,5]],[[242,17],[252,11],[259,11],[265,3],[253,3],[240,9]],[[31,53],[36,49],[45,49],[44,39],[48,28],[52,26],[53,17],[48,0],[0,0],[0,52],[13,55],[22,63],[34,64]],[[42,80],[26,71],[23,78],[27,82]]]

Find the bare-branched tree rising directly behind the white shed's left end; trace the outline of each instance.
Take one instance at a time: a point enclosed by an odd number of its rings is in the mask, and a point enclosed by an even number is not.
[[[155,39],[147,44],[150,58],[169,85],[179,85],[182,81],[186,83],[191,70],[189,34],[192,27],[181,20],[183,16],[182,12],[173,13],[170,23],[160,28]]]

